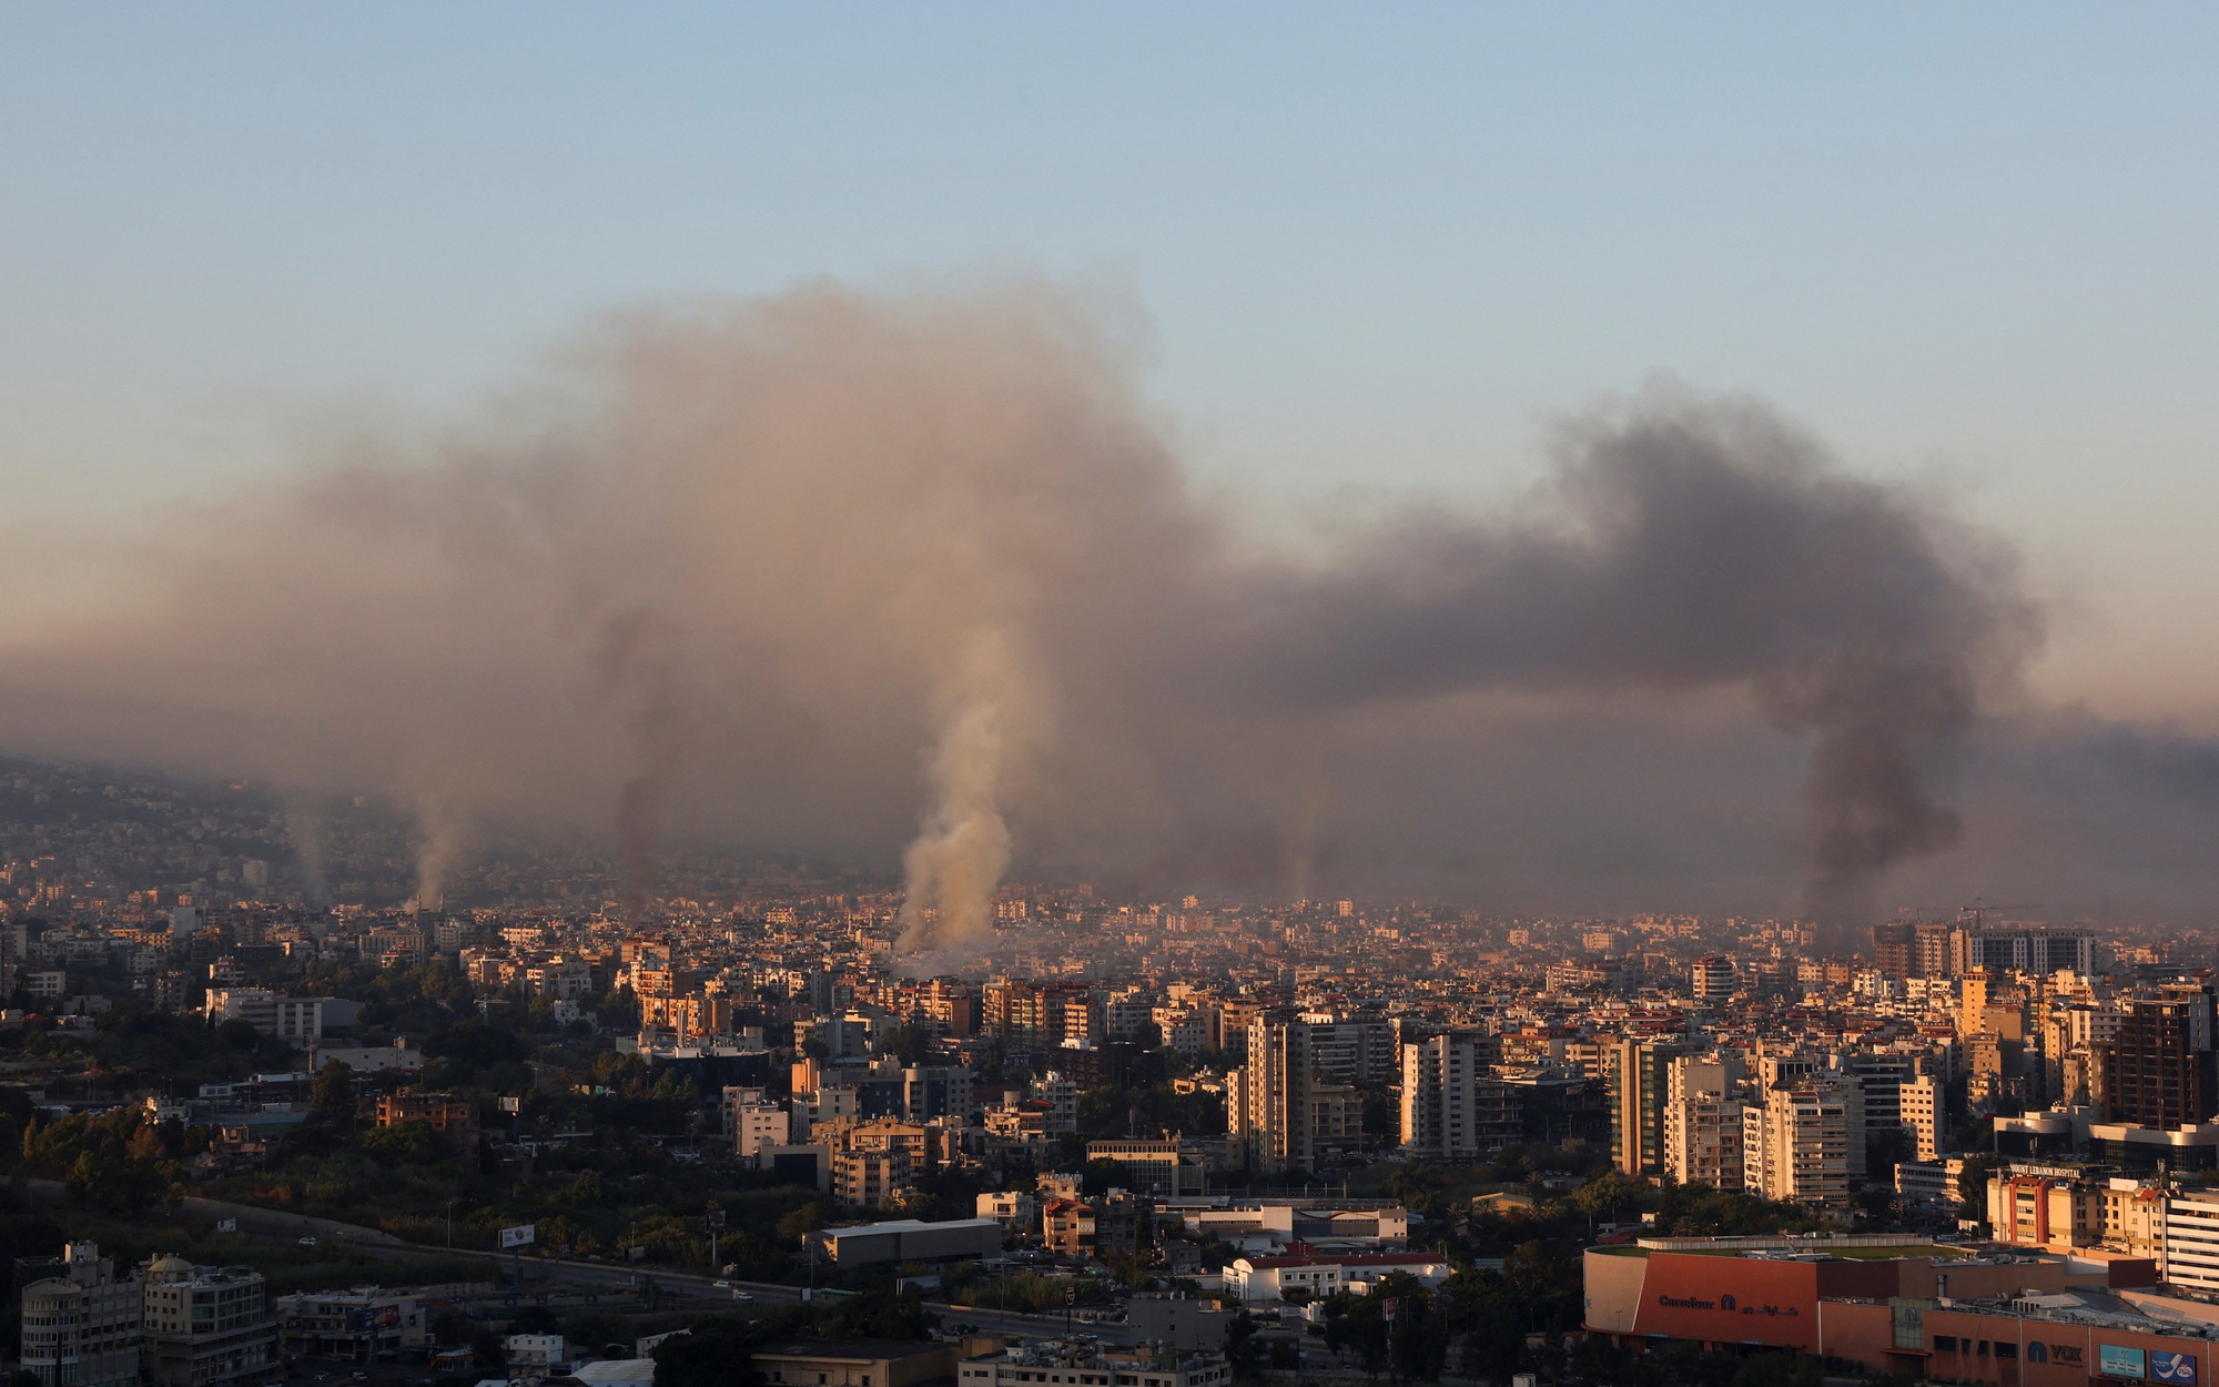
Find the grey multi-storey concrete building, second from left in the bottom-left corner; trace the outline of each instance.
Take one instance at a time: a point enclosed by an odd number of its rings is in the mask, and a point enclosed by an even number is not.
[[[277,1376],[277,1320],[253,1267],[146,1263],[142,1367],[158,1387],[251,1387]]]

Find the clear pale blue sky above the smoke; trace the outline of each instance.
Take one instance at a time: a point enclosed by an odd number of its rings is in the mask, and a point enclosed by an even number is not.
[[[1493,495],[1671,373],[1935,473],[2055,692],[2219,712],[2210,7],[0,7],[0,513],[615,302],[1129,291],[1207,473]]]

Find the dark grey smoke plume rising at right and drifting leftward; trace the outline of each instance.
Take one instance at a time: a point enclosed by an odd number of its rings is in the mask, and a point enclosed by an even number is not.
[[[1342,568],[1289,575],[1258,686],[1351,703],[1744,684],[1813,739],[1820,914],[1864,914],[1879,872],[1957,841],[1935,777],[2037,639],[1993,541],[1833,473],[1746,404],[1589,419],[1538,502],[1491,524],[1411,517]]]

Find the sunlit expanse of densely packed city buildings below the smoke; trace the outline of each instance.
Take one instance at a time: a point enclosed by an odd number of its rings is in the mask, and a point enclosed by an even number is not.
[[[857,879],[688,868],[641,914],[557,905],[590,897],[599,868],[544,865],[537,903],[304,910],[173,890],[18,908],[0,937],[53,974],[58,1008],[104,1003],[73,970],[122,976],[286,1039],[300,1074],[342,1059],[388,1087],[419,1063],[406,1039],[364,1043],[348,999],[273,979],[297,961],[455,968],[479,999],[621,1027],[657,1076],[719,1101],[737,1156],[888,1209],[948,1165],[1019,1187],[1067,1170],[1081,1130],[1121,1138],[1114,1158],[1158,1196],[1387,1147],[1462,1163],[1584,1143],[1629,1174],[1815,1207],[1879,1178],[1877,1152],[1904,1196],[1939,1201],[1951,1130],[1988,1114],[2008,1114],[2002,1152],[2026,1158],[2128,1174],[2219,1158],[2195,972],[2212,941],[2188,930],[2146,941],[1970,910],[1822,939],[1797,921],[1010,885],[965,979],[912,976],[899,894]],[[1087,1092],[1158,1083],[1207,1101],[1185,1130],[1081,1116]],[[1216,1105],[1223,1123],[1203,1116]]]

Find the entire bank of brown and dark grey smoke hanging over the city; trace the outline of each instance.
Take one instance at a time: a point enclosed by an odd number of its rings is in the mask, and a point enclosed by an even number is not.
[[[386,790],[426,892],[513,832],[612,841],[632,912],[677,841],[905,848],[956,950],[1012,863],[1855,914],[2037,635],[1751,404],[1595,413],[1507,513],[1245,533],[1025,284],[612,317],[468,426],[7,555],[0,750]]]

